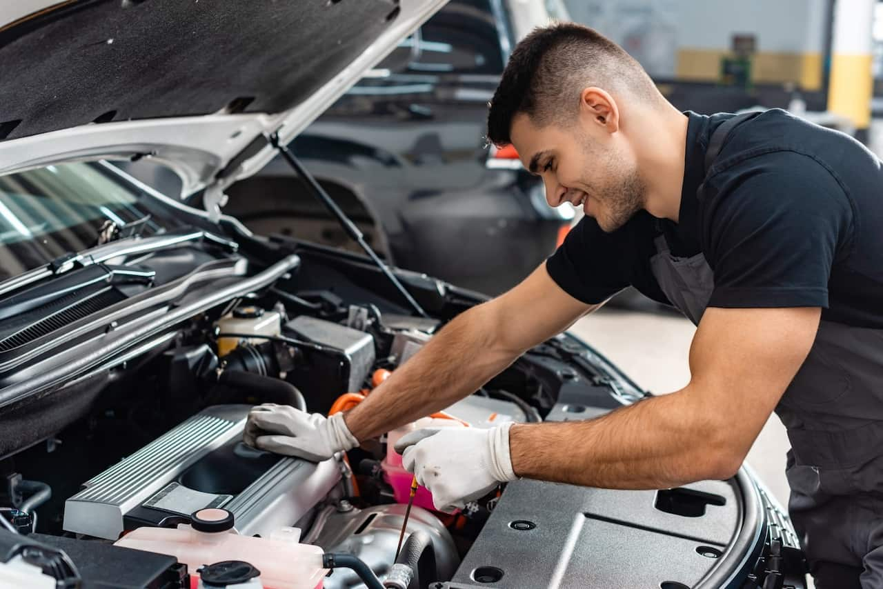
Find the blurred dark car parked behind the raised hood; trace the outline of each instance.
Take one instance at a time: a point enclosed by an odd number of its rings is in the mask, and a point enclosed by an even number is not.
[[[484,137],[510,49],[550,17],[561,9],[542,0],[453,0],[290,146],[396,266],[498,294],[570,228],[573,209],[549,208]],[[228,194],[224,212],[256,232],[358,251],[280,158]]]

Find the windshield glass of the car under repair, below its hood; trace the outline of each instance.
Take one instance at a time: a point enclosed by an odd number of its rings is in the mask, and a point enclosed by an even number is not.
[[[75,162],[0,176],[0,280],[99,243],[107,223],[141,235],[177,225],[159,200],[100,164]]]

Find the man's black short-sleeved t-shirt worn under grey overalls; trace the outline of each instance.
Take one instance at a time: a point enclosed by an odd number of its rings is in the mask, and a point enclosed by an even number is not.
[[[668,303],[650,269],[653,240],[664,234],[673,255],[705,255],[709,306],[820,306],[823,319],[883,328],[879,159],[847,135],[773,109],[730,132],[706,178],[708,141],[732,115],[686,115],[679,223],[640,211],[605,233],[586,217],[547,261],[555,283],[585,303],[630,284]]]

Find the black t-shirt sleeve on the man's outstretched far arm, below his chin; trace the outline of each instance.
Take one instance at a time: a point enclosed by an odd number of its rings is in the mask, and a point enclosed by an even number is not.
[[[630,284],[636,256],[633,222],[605,233],[592,217],[583,217],[546,261],[552,280],[589,305],[596,305]]]

